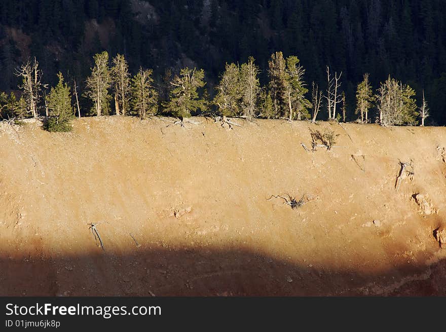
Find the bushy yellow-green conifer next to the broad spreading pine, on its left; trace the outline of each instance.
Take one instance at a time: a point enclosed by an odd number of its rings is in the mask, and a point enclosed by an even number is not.
[[[156,114],[158,110],[158,92],[153,86],[152,69],[139,67],[132,78],[133,109],[144,119],[147,114]]]

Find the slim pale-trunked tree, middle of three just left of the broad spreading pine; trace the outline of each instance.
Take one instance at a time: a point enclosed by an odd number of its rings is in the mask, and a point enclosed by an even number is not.
[[[130,74],[129,65],[124,55],[118,54],[113,58],[113,68],[111,71],[115,92],[116,114],[126,115],[129,110],[128,100],[130,95]]]

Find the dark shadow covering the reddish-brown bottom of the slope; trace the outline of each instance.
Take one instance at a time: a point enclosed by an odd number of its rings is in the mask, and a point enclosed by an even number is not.
[[[377,275],[304,267],[246,249],[98,248],[63,257],[0,256],[0,296],[445,296],[445,262],[430,274],[425,269],[407,265]]]

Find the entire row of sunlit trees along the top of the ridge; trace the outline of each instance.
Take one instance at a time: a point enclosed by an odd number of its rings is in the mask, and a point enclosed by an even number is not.
[[[204,81],[204,70],[185,67],[175,75],[166,70],[162,82],[155,83],[153,70],[139,67],[131,75],[125,57],[117,54],[109,58],[106,51],[93,57],[85,89],[79,94],[76,81],[71,87],[61,72],[58,83],[48,89],[42,81],[42,70],[34,58],[16,69],[21,78],[18,88],[20,98],[14,93],[0,93],[0,118],[18,120],[39,118],[45,115],[45,128],[50,131],[69,131],[70,120],[81,116],[80,97],[90,101],[87,115],[138,116],[145,119],[155,115],[173,116],[179,119],[193,115],[254,118],[346,121],[346,98],[342,89],[342,72],[326,67],[326,90],[312,82],[311,93],[305,81],[305,68],[298,57],[284,57],[275,52],[268,61],[269,82],[261,86],[258,79],[261,70],[255,59],[245,63],[226,63],[215,86],[211,99]],[[49,90],[49,91],[48,91]],[[73,93],[72,93],[73,92]],[[311,95],[311,96],[310,96]],[[327,117],[320,115],[321,105]],[[371,116],[371,112],[374,112]],[[429,108],[424,98],[420,106],[415,90],[407,84],[391,78],[380,83],[374,91],[369,74],[356,88],[355,114],[358,123],[376,122],[383,126],[424,126]],[[319,117],[318,117],[319,115]],[[375,117],[375,118],[374,118]]]

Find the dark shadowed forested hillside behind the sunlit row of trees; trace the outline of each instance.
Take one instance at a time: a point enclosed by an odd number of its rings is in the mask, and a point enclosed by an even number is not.
[[[252,55],[266,82],[275,51],[296,55],[308,86],[326,85],[325,66],[342,71],[348,118],[364,72],[377,89],[390,74],[424,89],[429,122],[446,115],[446,21],[442,0],[21,0],[0,2],[0,90],[16,89],[14,68],[28,57],[44,80],[57,72],[85,82],[92,55],[122,53],[130,70],[203,68],[208,89],[226,62]],[[213,94],[209,89],[209,93]]]

